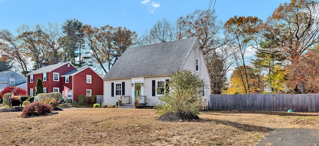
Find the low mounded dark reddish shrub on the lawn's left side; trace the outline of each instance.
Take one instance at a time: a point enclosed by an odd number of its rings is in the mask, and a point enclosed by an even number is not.
[[[52,112],[52,107],[42,102],[33,102],[23,108],[22,116],[41,116]]]

